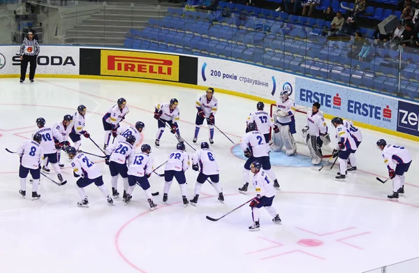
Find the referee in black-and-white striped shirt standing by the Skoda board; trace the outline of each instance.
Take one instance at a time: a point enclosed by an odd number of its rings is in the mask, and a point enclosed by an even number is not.
[[[24,38],[22,45],[20,45],[20,83],[24,81],[28,63],[31,63],[29,68],[29,80],[34,82],[35,69],[36,69],[36,57],[39,54],[38,40],[34,39],[34,31],[28,31],[28,38]]]

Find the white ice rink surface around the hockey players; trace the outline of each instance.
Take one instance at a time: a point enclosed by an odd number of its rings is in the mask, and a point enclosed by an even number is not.
[[[375,267],[419,256],[419,171],[417,142],[362,129],[364,140],[356,153],[358,172],[337,182],[335,167],[274,166],[281,191],[274,199],[282,225],[272,223],[263,209],[260,231],[251,233],[251,209],[248,206],[218,222],[219,217],[254,196],[242,195],[244,160],[233,155],[233,144],[215,131],[214,157],[220,166],[225,204],[216,191],[204,184],[197,207],[181,204],[177,182],[172,183],[169,204],[163,205],[163,177],[152,175],[152,191],[159,208],[150,212],[145,193],[139,187],[132,202],[124,206],[122,198],[109,206],[93,184],[87,186],[90,207],[77,207],[78,193],[68,159],[64,179],[57,186],[41,177],[40,200],[23,199],[17,191],[19,158],[4,148],[17,147],[36,129],[36,118],[44,117],[47,126],[73,115],[80,104],[87,106],[86,127],[103,147],[102,116],[119,97],[126,98],[130,112],[124,125],[145,123],[143,143],[152,146],[154,166],[167,160],[175,149],[176,138],[166,130],[161,147],[154,147],[157,122],[154,105],[170,98],[179,100],[179,129],[191,145],[195,130],[195,101],[205,90],[169,87],[138,82],[108,80],[36,79],[34,84],[19,84],[3,79],[0,84],[0,265],[2,272],[311,272],[360,273]],[[219,101],[216,126],[234,142],[240,142],[245,119],[256,110],[256,101],[215,93]],[[331,135],[334,130],[330,121]],[[300,132],[297,132],[300,133]],[[387,170],[376,140],[403,145],[411,152],[413,163],[406,174],[404,197],[387,200],[392,192],[389,181],[381,184]],[[199,140],[208,141],[203,126]],[[198,148],[198,144],[193,145]],[[81,149],[101,152],[82,138]],[[186,145],[189,154],[193,150]],[[299,147],[304,154],[304,148]],[[89,156],[103,172],[110,191],[110,173],[101,158]],[[292,159],[295,161],[295,158]],[[57,180],[54,171],[50,177]],[[159,169],[163,172],[163,168]],[[193,196],[197,172],[188,170],[188,198]],[[29,179],[28,179],[29,180]],[[119,179],[122,192],[122,179]],[[251,189],[251,186],[249,187]],[[31,184],[27,184],[31,191]]]

